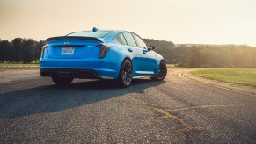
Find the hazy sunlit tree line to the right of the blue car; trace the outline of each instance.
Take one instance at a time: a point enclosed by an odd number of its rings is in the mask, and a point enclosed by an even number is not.
[[[180,67],[256,67],[256,47],[246,45],[178,45],[159,40],[145,40],[156,44],[156,52],[170,64]]]

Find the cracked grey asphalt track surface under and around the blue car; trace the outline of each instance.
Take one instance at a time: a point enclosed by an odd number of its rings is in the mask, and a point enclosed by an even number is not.
[[[186,71],[171,68],[164,82],[139,79],[127,89],[58,86],[36,69],[0,81],[0,143],[256,143],[256,96]]]

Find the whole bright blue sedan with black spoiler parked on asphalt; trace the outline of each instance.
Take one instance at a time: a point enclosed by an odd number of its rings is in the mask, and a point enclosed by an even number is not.
[[[74,78],[113,79],[128,87],[134,78],[162,81],[167,74],[164,58],[134,32],[72,32],[47,39],[42,47],[40,76],[51,76],[57,84]]]

